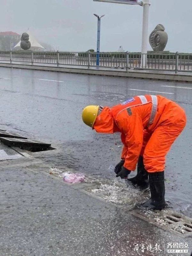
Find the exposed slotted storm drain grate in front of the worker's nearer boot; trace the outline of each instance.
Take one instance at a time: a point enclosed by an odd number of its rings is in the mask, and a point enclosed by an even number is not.
[[[192,219],[175,211],[134,210],[132,215],[182,237],[192,236]]]

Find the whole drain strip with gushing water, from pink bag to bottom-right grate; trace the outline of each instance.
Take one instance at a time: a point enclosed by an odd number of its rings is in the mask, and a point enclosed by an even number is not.
[[[60,179],[66,175],[76,175],[72,170],[61,171],[57,168],[50,168],[47,170],[47,173]],[[135,207],[136,203],[143,202],[148,198],[148,189],[140,191],[138,188],[126,182],[82,177],[84,178],[83,182],[81,180],[79,183],[66,182],[66,184],[74,186],[75,189],[96,197],[99,200],[115,204],[116,207],[121,208],[123,211],[129,211],[135,217],[143,219],[159,228],[182,237],[192,236],[192,218],[170,209],[149,211],[147,209],[140,210]]]

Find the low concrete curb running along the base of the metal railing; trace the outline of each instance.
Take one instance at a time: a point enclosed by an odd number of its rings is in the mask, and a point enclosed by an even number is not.
[[[81,68],[81,67],[54,67],[54,66],[41,66],[41,65],[28,65],[17,63],[0,63],[0,67],[18,68],[18,69],[31,69],[31,70],[45,70],[45,71],[57,71],[66,73],[86,74],[86,75],[101,75],[101,76],[114,76],[114,77],[132,77],[132,78],[146,78],[146,79],[158,79],[167,81],[179,81],[179,82],[192,82],[191,74],[174,74],[166,73],[165,71],[153,71],[153,70],[104,70],[96,68]]]

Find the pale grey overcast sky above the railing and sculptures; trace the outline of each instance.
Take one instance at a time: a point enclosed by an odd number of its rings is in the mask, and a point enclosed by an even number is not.
[[[141,50],[142,7],[92,0],[1,0],[0,31],[19,34],[28,28],[38,41],[63,51],[96,50],[97,19],[101,20],[100,51]],[[151,0],[149,31],[158,23],[168,33],[165,50],[192,53],[191,0]],[[151,50],[148,45],[148,50]]]

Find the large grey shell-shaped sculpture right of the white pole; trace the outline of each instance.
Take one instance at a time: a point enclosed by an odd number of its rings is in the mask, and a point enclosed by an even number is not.
[[[163,51],[167,44],[168,35],[164,30],[164,26],[158,24],[149,36],[149,43],[154,51]]]

